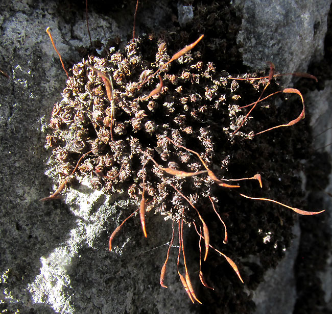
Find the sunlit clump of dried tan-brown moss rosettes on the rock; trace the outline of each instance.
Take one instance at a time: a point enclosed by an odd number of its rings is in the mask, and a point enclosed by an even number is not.
[[[148,39],[146,43],[152,45]],[[170,59],[167,44],[159,41],[153,62],[140,53],[140,41],[129,43],[125,51],[116,51],[108,58],[88,57],[87,62],[112,77],[112,106],[101,78],[84,62],[73,67],[73,76],[63,91],[63,99],[55,104],[50,127],[53,134],[48,144],[53,148],[60,178],[68,176],[82,153],[92,150],[79,165],[79,180],[85,179],[93,189],[105,193],[128,193],[139,199],[143,178],[149,209],[173,220],[195,219],[191,206],[170,186],[185,191],[197,206],[214,195],[214,181],[207,175],[190,179],[165,174],[162,167],[196,172],[205,170],[195,154],[175,143],[195,149],[206,165],[219,178],[229,177],[229,147],[232,133],[243,119],[239,104],[241,88],[227,79],[226,72],[217,72],[210,62],[203,62],[199,51],[186,54],[170,64],[162,73],[163,90],[153,97],[144,97],[155,88],[157,79],[142,83]],[[252,86],[256,92],[259,84]],[[73,85],[73,86],[72,86]],[[250,85],[250,84],[247,84]],[[148,99],[147,99],[148,98]],[[250,138],[238,132],[236,136]],[[113,137],[113,140],[112,140]],[[228,143],[228,145],[226,144]],[[190,217],[190,218],[188,218]]]

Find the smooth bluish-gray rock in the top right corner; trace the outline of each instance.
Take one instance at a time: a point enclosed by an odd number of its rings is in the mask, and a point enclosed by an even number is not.
[[[310,62],[323,57],[330,3],[234,1],[243,10],[238,43],[244,63],[265,69],[270,61],[280,73],[305,72]]]

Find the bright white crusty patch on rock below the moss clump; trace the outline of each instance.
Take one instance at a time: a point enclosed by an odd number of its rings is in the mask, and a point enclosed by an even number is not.
[[[120,200],[110,204],[109,196],[103,200],[101,197],[102,193],[96,190],[92,193],[91,190],[89,193],[74,189],[67,191],[65,202],[70,205],[77,217],[76,226],[68,232],[64,243],[56,247],[48,256],[40,258],[40,273],[33,282],[27,285],[35,303],[49,303],[55,312],[74,312],[75,306],[72,301],[74,290],[69,275],[73,267],[73,258],[79,258],[79,250],[85,244],[94,247],[94,241],[105,230],[105,224],[108,226],[109,220],[116,218],[114,217],[116,206],[126,208],[133,203],[130,200]],[[103,203],[99,204],[101,201]],[[125,244],[116,250],[118,254],[122,254]]]

